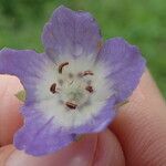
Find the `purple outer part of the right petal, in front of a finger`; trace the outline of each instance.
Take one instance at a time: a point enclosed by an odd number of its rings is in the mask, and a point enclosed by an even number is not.
[[[110,66],[107,79],[113,82],[116,103],[123,102],[136,89],[145,70],[139,50],[124,39],[114,38],[105,42],[97,60]]]

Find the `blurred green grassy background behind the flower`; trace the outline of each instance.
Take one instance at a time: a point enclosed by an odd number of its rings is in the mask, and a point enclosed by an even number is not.
[[[42,28],[60,4],[90,11],[104,39],[123,37],[138,45],[166,97],[165,0],[0,0],[0,49],[43,51]]]

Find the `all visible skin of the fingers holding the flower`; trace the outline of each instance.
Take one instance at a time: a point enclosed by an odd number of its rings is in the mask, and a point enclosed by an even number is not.
[[[0,166],[165,166],[166,103],[147,71],[107,129],[43,157],[11,144],[22,125],[22,103],[13,95],[21,89],[17,77],[0,76]]]

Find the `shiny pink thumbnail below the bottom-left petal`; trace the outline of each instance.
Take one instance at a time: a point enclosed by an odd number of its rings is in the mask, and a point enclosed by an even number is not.
[[[55,154],[34,157],[15,151],[6,166],[89,166],[91,165],[97,143],[97,135],[89,135]]]

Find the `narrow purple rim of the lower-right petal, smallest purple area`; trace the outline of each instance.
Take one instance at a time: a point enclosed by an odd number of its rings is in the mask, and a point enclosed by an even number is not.
[[[100,111],[100,113],[87,122],[85,125],[82,125],[76,128],[72,128],[71,132],[74,134],[83,133],[98,133],[107,127],[107,125],[114,120],[116,113],[114,110],[114,97],[111,97],[105,103],[105,106]]]

